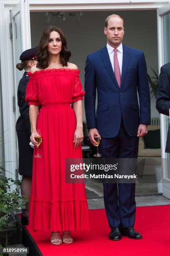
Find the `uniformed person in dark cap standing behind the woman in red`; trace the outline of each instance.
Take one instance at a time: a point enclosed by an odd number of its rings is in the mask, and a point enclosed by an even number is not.
[[[21,183],[21,194],[30,199],[31,182],[32,182],[32,158],[33,149],[30,147],[30,118],[29,118],[29,105],[25,102],[25,92],[29,81],[27,72],[31,72],[32,68],[37,64],[35,59],[38,47],[24,51],[20,60],[21,63],[16,65],[17,69],[25,70],[23,77],[20,79],[18,85],[18,107],[20,109],[20,116],[16,123],[16,131],[18,137],[18,150],[19,150],[19,166],[18,172],[23,175]],[[29,215],[29,201],[26,202],[26,209],[23,210],[21,221],[23,225],[28,225]]]

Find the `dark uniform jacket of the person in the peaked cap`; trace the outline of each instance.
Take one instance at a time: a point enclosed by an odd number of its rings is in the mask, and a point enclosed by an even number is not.
[[[16,123],[16,131],[26,131],[28,136],[31,134],[30,118],[29,118],[29,105],[25,101],[26,87],[29,81],[27,72],[24,72],[23,77],[20,79],[18,85],[18,107],[20,108],[20,116]]]

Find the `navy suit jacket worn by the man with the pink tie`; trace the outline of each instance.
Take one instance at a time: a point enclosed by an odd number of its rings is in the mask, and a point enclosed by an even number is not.
[[[96,89],[97,111],[95,113]],[[129,136],[137,136],[139,124],[150,124],[150,90],[143,51],[123,45],[120,87],[106,46],[87,56],[85,113],[87,128],[97,128],[103,138],[112,138],[117,135],[121,118]]]

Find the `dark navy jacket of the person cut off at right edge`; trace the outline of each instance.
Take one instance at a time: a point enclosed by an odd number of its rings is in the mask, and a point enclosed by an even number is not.
[[[160,114],[169,116],[170,109],[170,63],[160,69],[159,86],[156,94],[156,108]],[[170,127],[165,152],[170,152]]]

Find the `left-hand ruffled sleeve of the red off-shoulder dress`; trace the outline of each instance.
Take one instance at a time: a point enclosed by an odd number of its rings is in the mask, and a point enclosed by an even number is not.
[[[26,87],[25,101],[28,102],[28,105],[41,105],[38,101],[38,87],[37,79],[31,79]]]

